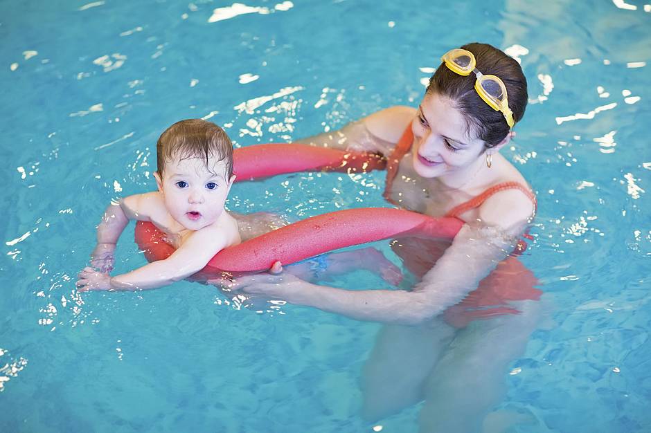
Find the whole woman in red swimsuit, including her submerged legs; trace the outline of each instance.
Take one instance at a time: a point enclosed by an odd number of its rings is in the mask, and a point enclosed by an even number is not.
[[[463,220],[452,244],[393,242],[420,282],[411,291],[346,291],[285,273],[243,277],[234,288],[359,320],[421,325],[388,326],[380,333],[365,367],[364,411],[377,418],[425,398],[425,431],[434,425],[439,431],[472,431],[479,418],[466,415],[485,413],[497,401],[499,385],[492,378],[524,347],[535,323],[526,301],[540,294],[517,260],[503,261],[536,210],[524,177],[499,154],[524,115],[527,89],[519,64],[492,46],[468,44],[442,60],[418,109],[391,107],[339,131],[301,140],[383,154],[388,158],[388,201]],[[499,272],[485,279],[500,262],[498,270],[506,267],[517,275],[515,286],[506,290]],[[514,314],[519,310],[527,314]],[[468,325],[476,317],[493,316],[497,318],[482,325]],[[459,327],[467,329],[460,332]],[[481,342],[468,335],[473,329],[481,329]],[[462,349],[444,350],[449,347]],[[481,369],[488,377],[459,377],[454,374],[459,368]],[[391,395],[384,387],[391,388]],[[455,404],[459,393],[463,413]]]

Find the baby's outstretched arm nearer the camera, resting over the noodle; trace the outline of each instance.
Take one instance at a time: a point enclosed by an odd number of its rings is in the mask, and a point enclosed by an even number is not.
[[[222,230],[204,228],[190,234],[165,260],[154,261],[116,277],[84,268],[77,285],[80,291],[136,291],[167,286],[202,270],[217,252],[231,243],[233,239],[224,236]]]

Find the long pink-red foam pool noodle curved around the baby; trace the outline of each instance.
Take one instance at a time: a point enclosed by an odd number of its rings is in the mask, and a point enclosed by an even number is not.
[[[258,145],[237,149],[234,172],[238,180],[299,171],[362,170],[383,167],[373,154],[355,154],[306,145]],[[274,261],[292,264],[339,248],[402,236],[452,239],[463,221],[392,208],[359,208],[313,216],[239,245],[226,248],[193,279],[220,277],[226,273],[268,270]],[[139,221],[136,243],[149,261],[169,257],[174,248],[163,241],[163,232]]]

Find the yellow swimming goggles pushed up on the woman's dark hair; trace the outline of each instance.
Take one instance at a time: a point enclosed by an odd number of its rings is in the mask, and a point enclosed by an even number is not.
[[[474,75],[477,76],[477,80],[474,82],[474,89],[479,97],[495,111],[501,111],[508,127],[513,127],[515,121],[513,120],[513,112],[508,108],[506,86],[504,86],[504,83],[499,77],[495,75],[483,75],[483,73],[477,71],[474,68],[476,65],[474,55],[470,51],[462,48],[449,50],[440,60],[445,63],[445,66],[450,71],[463,75],[464,77],[474,72]]]

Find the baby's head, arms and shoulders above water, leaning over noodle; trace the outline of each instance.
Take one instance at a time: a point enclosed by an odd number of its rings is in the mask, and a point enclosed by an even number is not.
[[[202,270],[220,250],[240,243],[238,223],[224,211],[235,176],[233,145],[224,130],[200,119],[181,120],[157,143],[157,192],[112,203],[97,228],[91,267],[79,274],[79,291],[158,288]],[[120,234],[130,219],[151,221],[177,248],[168,259],[109,276]]]

